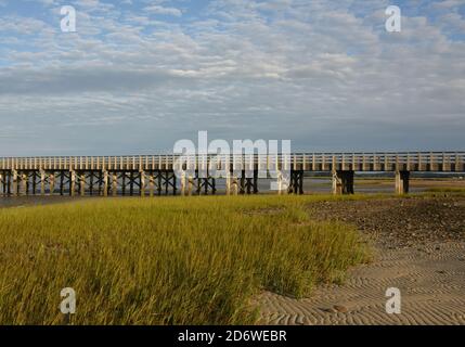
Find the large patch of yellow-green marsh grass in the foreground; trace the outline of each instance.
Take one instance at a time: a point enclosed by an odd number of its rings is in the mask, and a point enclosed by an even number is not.
[[[0,209],[0,324],[247,324],[262,290],[308,296],[367,259],[312,196],[107,198]]]

